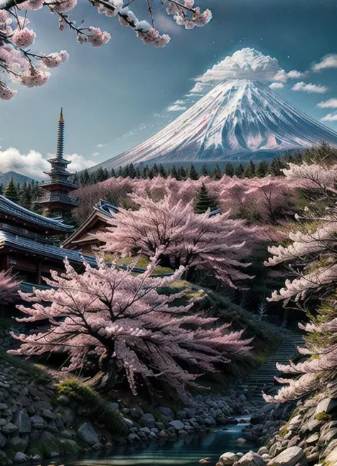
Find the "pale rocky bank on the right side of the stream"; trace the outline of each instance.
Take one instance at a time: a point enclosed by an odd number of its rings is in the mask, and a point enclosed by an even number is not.
[[[218,466],[337,465],[337,384],[287,405],[267,404],[252,416],[242,436],[260,440],[257,452],[225,452]]]

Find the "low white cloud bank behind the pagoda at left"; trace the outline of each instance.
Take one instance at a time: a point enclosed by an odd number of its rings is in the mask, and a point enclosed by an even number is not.
[[[53,154],[48,154],[48,157],[53,157]],[[90,166],[95,165],[92,160],[86,160],[82,155],[71,154],[66,155],[66,159],[71,163],[68,165],[69,171],[80,171]],[[9,147],[6,150],[0,150],[0,171],[16,171],[21,175],[30,176],[33,179],[46,179],[46,174],[43,171],[50,169],[49,162],[42,157],[40,152],[30,150],[28,154],[21,154],[15,147]]]

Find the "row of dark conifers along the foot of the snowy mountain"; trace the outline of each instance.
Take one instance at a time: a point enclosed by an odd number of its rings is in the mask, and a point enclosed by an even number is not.
[[[287,166],[287,163],[294,162],[299,163],[301,161],[301,154],[285,154],[284,157],[279,158],[275,156],[270,163],[265,160],[261,160],[258,164],[255,164],[250,160],[247,166],[243,166],[240,162],[237,164],[232,164],[230,161],[225,164],[223,170],[220,169],[218,164],[215,164],[212,168],[208,168],[206,164],[201,166],[200,170],[197,171],[196,167],[191,164],[188,167],[172,165],[168,169],[162,164],[154,164],[149,167],[148,165],[139,165],[137,167],[134,164],[129,164],[126,166],[120,166],[119,169],[102,169],[100,166],[97,170],[89,173],[87,170],[84,170],[80,174],[80,184],[85,186],[86,184],[95,184],[100,183],[100,181],[105,181],[106,179],[112,178],[114,176],[122,176],[126,178],[154,178],[154,176],[161,175],[164,178],[172,176],[178,180],[183,179],[199,179],[200,176],[210,176],[213,179],[220,179],[223,174],[228,176],[238,176],[239,178],[253,178],[258,176],[263,178],[269,174],[274,176],[282,176],[282,168]]]

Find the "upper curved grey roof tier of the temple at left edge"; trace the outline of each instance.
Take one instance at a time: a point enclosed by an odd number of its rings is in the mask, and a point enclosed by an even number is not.
[[[65,225],[63,223],[63,219],[60,217],[44,217],[38,213],[29,211],[28,208],[19,206],[17,203],[10,201],[8,198],[0,194],[0,217],[1,214],[12,216],[14,219],[20,218],[26,223],[31,223],[50,231],[69,232],[74,229],[71,225]]]

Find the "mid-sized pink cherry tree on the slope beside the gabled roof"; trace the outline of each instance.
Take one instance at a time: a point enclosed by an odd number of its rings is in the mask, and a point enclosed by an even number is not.
[[[183,265],[189,279],[196,269],[211,271],[230,286],[248,278],[240,269],[249,264],[242,260],[263,236],[262,229],[248,228],[243,221],[229,218],[229,213],[212,217],[209,211],[194,213],[193,200],[184,204],[173,191],[157,202],[145,191],[129,198],[139,208],[121,208],[107,232],[97,234],[106,243],[106,252],[151,257],[161,248],[161,265]]]

